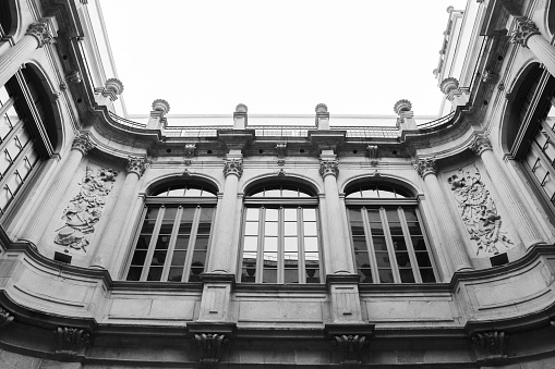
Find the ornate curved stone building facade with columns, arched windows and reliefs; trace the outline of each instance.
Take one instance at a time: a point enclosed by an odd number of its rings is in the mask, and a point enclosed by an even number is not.
[[[551,1],[449,10],[438,120],[197,127],[95,3],[0,2],[0,367],[555,367]]]

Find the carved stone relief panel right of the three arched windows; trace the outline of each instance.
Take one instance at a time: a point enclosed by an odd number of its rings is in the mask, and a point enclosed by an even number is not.
[[[478,244],[476,256],[499,254],[499,247],[509,248],[512,242],[506,232],[500,231],[502,220],[490,190],[481,181],[478,168],[459,169],[448,180],[455,199],[459,202],[460,217],[470,234],[470,239]]]

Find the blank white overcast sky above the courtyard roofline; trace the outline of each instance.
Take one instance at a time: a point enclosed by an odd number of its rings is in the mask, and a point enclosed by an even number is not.
[[[129,114],[438,114],[432,71],[466,0],[101,0]],[[124,15],[122,15],[124,14]]]

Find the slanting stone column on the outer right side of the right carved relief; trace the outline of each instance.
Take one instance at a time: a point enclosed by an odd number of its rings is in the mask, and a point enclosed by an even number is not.
[[[470,144],[470,148],[482,159],[485,170],[495,182],[495,188],[503,199],[503,204],[509,211],[510,217],[517,226],[517,233],[528,249],[532,245],[544,243],[540,231],[523,201],[520,200],[517,190],[510,184],[510,180],[503,168],[495,159],[490,138],[485,135],[476,135]]]

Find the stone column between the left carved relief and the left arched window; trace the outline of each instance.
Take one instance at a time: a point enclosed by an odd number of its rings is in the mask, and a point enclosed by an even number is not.
[[[125,182],[118,194],[118,199],[109,217],[109,223],[104,230],[102,237],[96,247],[95,257],[91,262],[91,268],[110,270],[113,257],[121,246],[123,230],[129,221],[129,208],[133,204],[133,197],[136,196],[136,185],[146,168],[146,158],[128,157],[125,170]]]

